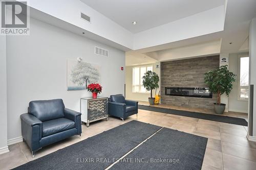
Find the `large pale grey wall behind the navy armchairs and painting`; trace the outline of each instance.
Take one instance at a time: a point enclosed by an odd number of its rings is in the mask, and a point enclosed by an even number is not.
[[[67,91],[67,59],[101,66],[101,96],[123,93],[124,52],[39,20],[30,20],[29,36],[7,38],[8,139],[20,137],[19,115],[32,100],[63,99],[67,108],[80,111],[87,90]],[[94,54],[94,46],[109,50],[109,58]]]

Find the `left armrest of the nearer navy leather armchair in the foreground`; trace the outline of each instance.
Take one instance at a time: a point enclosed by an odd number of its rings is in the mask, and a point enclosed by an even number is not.
[[[42,137],[42,122],[32,114],[20,115],[22,120],[22,136],[32,151],[40,148],[39,140]]]

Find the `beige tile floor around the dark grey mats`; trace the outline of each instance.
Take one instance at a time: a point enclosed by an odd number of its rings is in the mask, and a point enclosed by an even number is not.
[[[103,131],[115,128],[131,120],[138,120],[166,128],[177,129],[208,138],[207,148],[202,169],[255,169],[256,143],[246,138],[247,127],[213,122],[204,119],[184,117],[139,110],[138,117],[130,116],[122,122],[118,118],[110,117],[109,121],[101,120],[90,124],[87,128],[82,125],[82,135],[73,136],[58,143],[49,145],[38,151],[35,158],[25,142],[9,146],[9,153],[0,155],[0,169],[10,169],[33,159],[65,148],[68,145],[97,135]]]

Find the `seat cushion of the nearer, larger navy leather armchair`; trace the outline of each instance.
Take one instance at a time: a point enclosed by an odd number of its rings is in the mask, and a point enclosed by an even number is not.
[[[42,123],[42,136],[46,137],[72,128],[75,128],[75,122],[68,118],[48,120]]]

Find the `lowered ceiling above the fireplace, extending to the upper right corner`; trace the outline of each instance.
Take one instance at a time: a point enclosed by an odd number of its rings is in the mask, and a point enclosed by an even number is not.
[[[196,56],[198,54],[194,54],[191,49],[189,50],[189,53],[185,53],[186,48],[195,46],[197,47],[197,50],[194,51],[198,51],[201,53],[200,55],[204,56],[208,55],[209,52],[211,52],[212,54],[216,54],[216,52],[218,51],[218,45],[212,46],[211,43],[208,43],[215,42],[216,39],[221,39],[219,53],[248,52],[249,22],[253,17],[256,17],[255,9],[256,1],[254,0],[228,1],[224,25],[225,27],[223,31],[148,47],[137,50],[135,52],[145,54],[158,61],[165,61],[172,60],[173,58],[177,58],[182,55],[182,57],[184,58],[191,57],[193,55]],[[230,42],[232,42],[232,44],[229,44]],[[202,46],[200,45],[195,45],[198,43],[204,44],[206,46],[202,48]],[[208,50],[204,51],[205,48],[208,48]],[[132,56],[136,55],[135,52],[130,51],[126,52],[126,54]],[[164,57],[162,54],[160,54],[161,52],[166,53]]]

